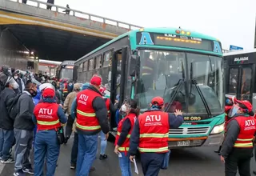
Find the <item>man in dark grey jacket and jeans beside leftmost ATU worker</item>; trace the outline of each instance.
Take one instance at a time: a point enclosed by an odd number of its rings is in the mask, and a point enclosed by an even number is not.
[[[30,163],[30,150],[33,142],[34,122],[32,115],[34,111],[33,97],[37,95],[37,85],[31,81],[26,82],[26,89],[19,97],[18,115],[14,121],[14,135],[16,139],[14,176],[25,176],[34,174]]]

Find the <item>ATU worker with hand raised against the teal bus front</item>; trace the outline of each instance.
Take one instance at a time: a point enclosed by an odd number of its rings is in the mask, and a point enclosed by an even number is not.
[[[138,116],[130,136],[130,161],[134,162],[138,149],[141,153],[142,171],[146,176],[158,176],[160,169],[166,168],[162,164],[169,159],[169,129],[178,128],[183,123],[181,110],[168,114],[163,109],[163,98],[153,98],[150,110]]]

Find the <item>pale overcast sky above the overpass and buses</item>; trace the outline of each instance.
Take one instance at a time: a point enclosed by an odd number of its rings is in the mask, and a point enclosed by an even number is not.
[[[55,0],[54,4],[137,26],[181,26],[218,38],[226,50],[230,45],[254,48],[255,0]]]

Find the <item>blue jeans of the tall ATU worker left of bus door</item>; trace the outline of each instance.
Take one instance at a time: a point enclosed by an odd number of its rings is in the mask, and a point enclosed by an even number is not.
[[[78,162],[76,176],[88,176],[97,154],[98,134],[78,134]]]

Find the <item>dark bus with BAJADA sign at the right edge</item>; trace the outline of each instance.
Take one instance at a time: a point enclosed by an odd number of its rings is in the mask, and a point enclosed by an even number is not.
[[[256,99],[256,49],[230,51],[223,55],[226,94],[255,104],[253,100]]]

